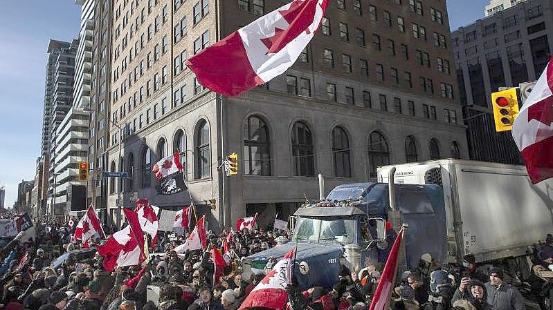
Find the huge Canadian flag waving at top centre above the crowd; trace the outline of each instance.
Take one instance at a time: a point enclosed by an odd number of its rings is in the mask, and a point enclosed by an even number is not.
[[[186,61],[200,83],[237,96],[290,68],[314,37],[328,0],[295,0]],[[224,64],[224,66],[221,66]]]

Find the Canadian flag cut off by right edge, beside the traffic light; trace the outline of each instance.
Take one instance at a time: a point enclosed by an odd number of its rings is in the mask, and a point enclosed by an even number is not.
[[[553,177],[553,58],[513,123],[512,134],[533,184]]]

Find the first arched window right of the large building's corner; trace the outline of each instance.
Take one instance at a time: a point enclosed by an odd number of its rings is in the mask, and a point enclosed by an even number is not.
[[[244,174],[271,175],[271,144],[269,128],[257,116],[244,123]]]

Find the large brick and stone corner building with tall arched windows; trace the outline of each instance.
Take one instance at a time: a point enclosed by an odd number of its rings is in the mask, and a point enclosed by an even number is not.
[[[239,97],[206,90],[186,68],[188,57],[287,2],[114,0],[117,125],[106,124],[106,168],[130,178],[109,180],[112,219],[123,191],[164,209],[190,195],[221,226],[255,212],[269,224],[318,197],[318,173],[329,191],[376,180],[383,164],[468,157],[445,1],[329,1],[297,63]],[[174,151],[189,193],[157,195],[152,166]],[[217,168],[230,153],[239,175],[226,177]],[[201,207],[210,199],[213,211]]]

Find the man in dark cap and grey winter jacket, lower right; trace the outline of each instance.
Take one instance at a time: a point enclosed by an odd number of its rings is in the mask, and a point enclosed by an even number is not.
[[[518,289],[503,282],[503,271],[493,268],[489,274],[489,282],[485,284],[488,303],[493,310],[525,310],[526,305]]]

